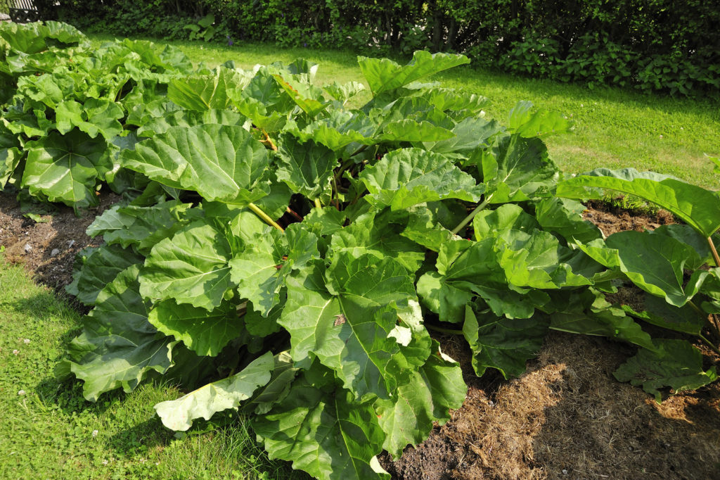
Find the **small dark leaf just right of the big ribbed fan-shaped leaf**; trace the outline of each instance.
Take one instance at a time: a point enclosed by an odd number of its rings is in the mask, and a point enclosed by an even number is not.
[[[338,157],[330,148],[312,140],[300,143],[291,135],[282,137],[277,154],[277,179],[292,192],[309,199],[328,190],[333,169],[339,166]]]

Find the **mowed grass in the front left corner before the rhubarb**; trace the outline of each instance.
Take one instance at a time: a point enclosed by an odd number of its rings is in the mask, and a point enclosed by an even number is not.
[[[289,476],[236,416],[176,439],[153,410],[181,395],[173,386],[147,383],[92,404],[81,382],[58,383],[54,365],[79,327],[73,308],[0,254],[0,479]]]

